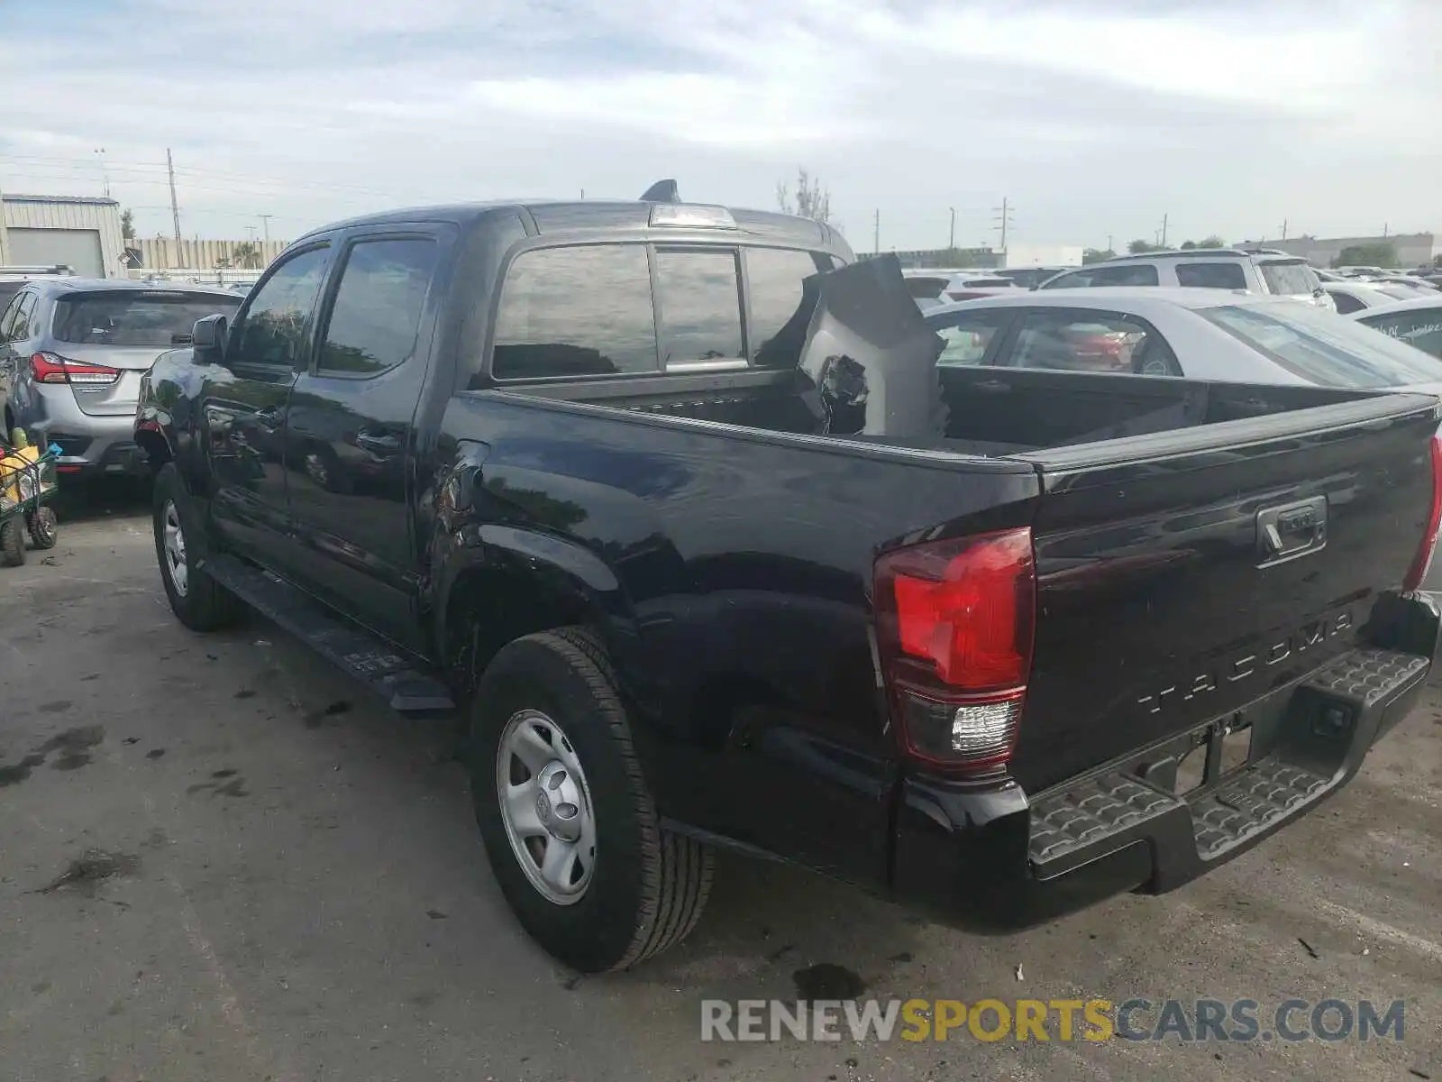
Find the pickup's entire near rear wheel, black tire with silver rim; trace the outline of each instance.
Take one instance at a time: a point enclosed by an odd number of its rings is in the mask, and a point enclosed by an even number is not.
[[[470,785],[486,854],[522,926],[583,972],[679,942],[711,890],[711,853],[660,828],[630,718],[581,629],[505,646],[476,688]]]

